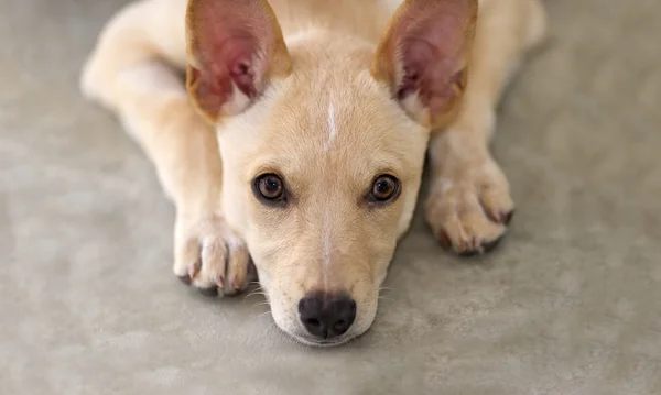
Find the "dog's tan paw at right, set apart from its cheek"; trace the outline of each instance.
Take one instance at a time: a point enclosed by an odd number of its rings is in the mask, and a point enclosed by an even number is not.
[[[470,256],[498,244],[513,210],[509,183],[489,158],[480,165],[452,166],[437,174],[425,218],[444,248]]]

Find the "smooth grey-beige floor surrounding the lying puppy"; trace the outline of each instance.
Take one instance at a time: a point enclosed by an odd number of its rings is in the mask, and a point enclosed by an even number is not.
[[[0,394],[661,394],[661,2],[546,1],[495,144],[507,242],[459,260],[418,220],[325,351],[172,276],[173,208],[76,85],[124,2],[0,0]]]

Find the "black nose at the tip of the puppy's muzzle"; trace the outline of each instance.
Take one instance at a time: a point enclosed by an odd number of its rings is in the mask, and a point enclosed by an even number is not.
[[[332,339],[346,332],[356,319],[356,301],[346,295],[314,293],[299,303],[301,322],[310,334]]]

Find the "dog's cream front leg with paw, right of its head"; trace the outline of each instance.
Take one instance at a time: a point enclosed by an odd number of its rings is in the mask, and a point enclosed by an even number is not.
[[[495,109],[523,53],[544,32],[539,0],[483,1],[464,107],[430,142],[432,185],[425,218],[446,248],[488,251],[513,212],[508,180],[489,152]]]

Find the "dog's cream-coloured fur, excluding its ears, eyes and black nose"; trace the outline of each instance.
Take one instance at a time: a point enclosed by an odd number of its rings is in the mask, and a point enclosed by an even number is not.
[[[253,102],[235,86],[213,124],[178,76],[198,66],[191,42],[197,22],[186,25],[186,0],[126,7],[84,68],[85,95],[118,114],[176,205],[175,274],[231,295],[246,287],[252,259],[275,322],[303,342],[319,343],[297,312],[315,290],[356,300],[356,320],[334,344],[371,326],[427,150],[434,182],[425,218],[447,246],[483,252],[513,210],[488,143],[503,86],[543,36],[542,6],[479,1],[466,90],[449,124],[435,128],[416,96],[398,102],[375,72],[377,45],[401,2],[271,0],[286,44],[272,61],[280,74]],[[403,73],[398,67],[393,78]],[[252,180],[263,173],[284,177],[293,194],[286,209],[256,198]],[[399,198],[376,207],[364,198],[379,174],[395,175],[402,187]]]

